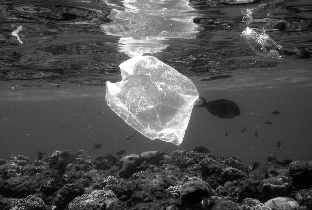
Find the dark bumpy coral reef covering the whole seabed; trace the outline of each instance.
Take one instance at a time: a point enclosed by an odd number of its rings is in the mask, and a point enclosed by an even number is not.
[[[271,177],[255,180],[238,157],[185,150],[13,156],[0,160],[0,210],[312,209],[311,159],[268,160]]]

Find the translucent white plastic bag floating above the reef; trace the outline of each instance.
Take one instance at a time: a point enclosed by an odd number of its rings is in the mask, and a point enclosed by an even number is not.
[[[119,67],[122,81],[106,83],[108,106],[144,136],[181,144],[199,97],[194,84],[153,56],[136,56]]]

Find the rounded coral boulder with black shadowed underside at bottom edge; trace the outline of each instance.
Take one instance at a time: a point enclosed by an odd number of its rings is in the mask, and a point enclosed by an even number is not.
[[[203,198],[215,195],[212,187],[202,180],[191,180],[185,182],[180,190],[181,206],[191,207],[200,203]]]

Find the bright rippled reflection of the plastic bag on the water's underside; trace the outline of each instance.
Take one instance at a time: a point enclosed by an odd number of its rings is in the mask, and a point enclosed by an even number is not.
[[[121,36],[118,52],[129,56],[161,52],[168,38],[196,38],[199,16],[188,0],[123,0],[108,16],[114,22],[102,24],[107,35]]]

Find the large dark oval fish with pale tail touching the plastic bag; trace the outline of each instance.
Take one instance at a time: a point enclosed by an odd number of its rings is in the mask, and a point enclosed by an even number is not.
[[[211,114],[220,118],[234,118],[240,115],[240,110],[237,104],[227,99],[218,99],[206,102],[203,97],[202,104],[195,107],[205,107]]]

